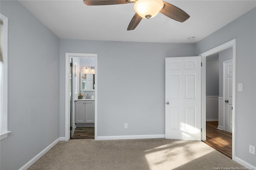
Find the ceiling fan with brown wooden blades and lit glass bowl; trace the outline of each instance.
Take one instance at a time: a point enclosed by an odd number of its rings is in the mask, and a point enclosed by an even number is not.
[[[165,16],[178,22],[186,21],[190,16],[180,8],[164,2],[163,0],[84,0],[84,4],[90,5],[115,5],[134,4],[135,15],[133,16],[127,30],[134,30],[142,18],[150,19],[161,12]]]

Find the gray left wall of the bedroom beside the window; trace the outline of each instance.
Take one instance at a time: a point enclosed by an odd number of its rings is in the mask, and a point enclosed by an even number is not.
[[[18,1],[0,1],[8,25],[8,138],[2,170],[17,170],[59,138],[59,39]]]

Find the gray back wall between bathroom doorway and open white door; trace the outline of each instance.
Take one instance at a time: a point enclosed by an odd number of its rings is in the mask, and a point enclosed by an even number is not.
[[[164,134],[165,57],[193,56],[194,45],[60,40],[60,136],[66,52],[98,54],[98,136]]]

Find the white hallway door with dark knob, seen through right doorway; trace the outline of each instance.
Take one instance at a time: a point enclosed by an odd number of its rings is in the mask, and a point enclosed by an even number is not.
[[[233,62],[232,60],[223,62],[223,94],[224,94],[224,116],[225,130],[232,133],[232,87],[233,87]]]

